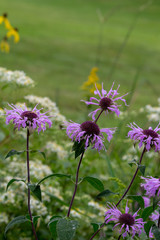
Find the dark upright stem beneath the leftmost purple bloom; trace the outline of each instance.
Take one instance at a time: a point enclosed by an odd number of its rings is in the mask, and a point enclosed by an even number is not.
[[[28,179],[28,184],[30,184],[30,170],[29,170],[29,129],[27,128],[27,179]],[[28,187],[28,212],[31,220],[31,225],[32,225],[32,231],[35,236],[35,239],[38,240],[36,230],[34,228],[33,224],[33,218],[32,218],[32,213],[31,213],[31,204],[30,204],[30,189]]]

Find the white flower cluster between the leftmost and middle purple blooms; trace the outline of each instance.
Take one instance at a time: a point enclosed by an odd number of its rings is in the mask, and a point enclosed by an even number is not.
[[[63,122],[66,118],[59,113],[59,109],[55,102],[52,102],[48,97],[38,97],[35,95],[25,96],[25,99],[32,104],[40,104],[42,107],[48,109],[49,115],[54,117],[54,120]]]

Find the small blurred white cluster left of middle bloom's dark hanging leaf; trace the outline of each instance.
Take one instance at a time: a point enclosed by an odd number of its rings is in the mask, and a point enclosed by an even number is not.
[[[65,151],[64,148],[56,142],[47,142],[45,149],[48,151],[48,153],[55,152],[60,160],[68,156],[67,151]]]

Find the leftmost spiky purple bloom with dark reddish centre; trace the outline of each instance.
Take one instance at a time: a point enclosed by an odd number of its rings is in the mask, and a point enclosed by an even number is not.
[[[8,125],[11,120],[13,120],[13,124],[15,125],[15,128],[32,128],[36,129],[38,127],[38,133],[40,131],[46,130],[46,123],[48,123],[49,127],[51,127],[52,122],[49,119],[50,116],[47,116],[46,113],[40,113],[41,109],[37,109],[37,105],[33,108],[32,111],[28,110],[25,106],[25,109],[23,110],[21,107],[17,107],[13,104],[8,104],[12,110],[6,111],[6,124]]]

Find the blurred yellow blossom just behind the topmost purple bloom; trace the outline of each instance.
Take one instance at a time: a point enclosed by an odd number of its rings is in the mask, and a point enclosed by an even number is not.
[[[93,67],[91,69],[90,75],[88,76],[88,80],[83,83],[81,89],[88,91],[90,93],[94,93],[96,90],[95,84],[98,89],[101,89],[101,85],[98,83],[99,77],[97,76],[98,68]]]

